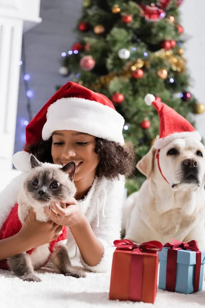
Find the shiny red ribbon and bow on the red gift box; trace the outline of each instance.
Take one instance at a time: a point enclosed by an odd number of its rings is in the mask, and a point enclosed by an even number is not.
[[[130,251],[131,253],[129,299],[140,301],[144,271],[144,253],[156,255],[158,251],[161,251],[163,246],[158,241],[136,244],[126,239],[115,240],[114,245],[117,247],[116,251],[124,250]]]

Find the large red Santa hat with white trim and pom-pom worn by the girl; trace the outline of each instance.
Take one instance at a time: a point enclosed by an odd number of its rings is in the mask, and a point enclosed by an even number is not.
[[[68,82],[61,87],[26,127],[26,144],[48,140],[55,130],[75,130],[124,145],[125,120],[105,95]],[[30,170],[30,154],[13,156],[20,171]]]

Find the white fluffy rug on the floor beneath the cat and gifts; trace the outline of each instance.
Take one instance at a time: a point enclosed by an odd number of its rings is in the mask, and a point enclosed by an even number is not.
[[[87,273],[76,279],[57,274],[51,267],[38,271],[42,282],[27,282],[8,271],[0,271],[1,308],[152,307],[142,302],[110,301],[110,274]],[[154,307],[194,308],[205,306],[203,291],[179,294],[158,290]]]

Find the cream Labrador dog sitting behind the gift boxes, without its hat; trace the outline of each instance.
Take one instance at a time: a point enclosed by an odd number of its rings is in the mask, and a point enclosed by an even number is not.
[[[195,138],[175,139],[152,147],[138,164],[147,177],[138,192],[125,201],[122,234],[136,243],[151,240],[163,245],[172,238],[197,240],[204,250],[205,151]]]

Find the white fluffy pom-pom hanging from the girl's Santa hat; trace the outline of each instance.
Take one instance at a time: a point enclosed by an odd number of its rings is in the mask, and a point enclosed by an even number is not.
[[[16,152],[12,158],[12,163],[18,171],[27,172],[31,170],[31,155],[26,151]]]

